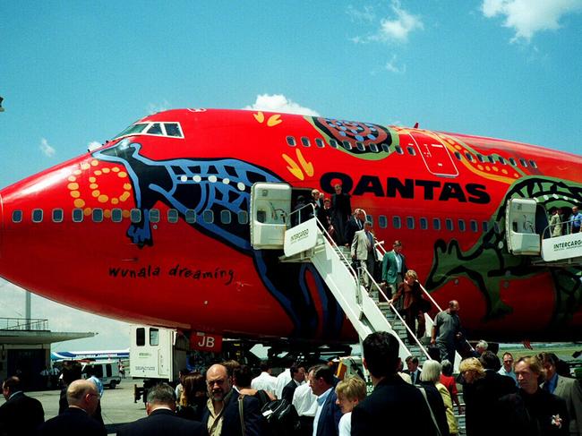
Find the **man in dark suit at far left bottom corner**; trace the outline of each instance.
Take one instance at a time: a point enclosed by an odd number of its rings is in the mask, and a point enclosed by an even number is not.
[[[9,377],[2,383],[6,402],[0,406],[0,434],[3,436],[31,436],[45,422],[45,411],[36,398],[24,395],[21,380]]]

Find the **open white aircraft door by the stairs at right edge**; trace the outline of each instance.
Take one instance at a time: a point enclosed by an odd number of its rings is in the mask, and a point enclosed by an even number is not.
[[[540,235],[535,232],[533,199],[509,199],[505,209],[505,233],[508,250],[512,254],[538,256],[541,251]]]

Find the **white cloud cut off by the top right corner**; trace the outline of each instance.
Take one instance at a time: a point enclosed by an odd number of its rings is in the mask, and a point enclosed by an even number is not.
[[[582,0],[484,0],[481,11],[505,17],[503,26],[516,32],[511,42],[529,42],[538,31],[560,29],[561,17],[582,11]]]

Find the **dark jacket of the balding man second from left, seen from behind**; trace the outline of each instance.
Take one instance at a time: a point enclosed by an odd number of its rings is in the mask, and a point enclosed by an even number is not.
[[[39,436],[56,436],[60,434],[106,436],[107,431],[102,423],[98,423],[91,418],[84,410],[68,407],[61,415],[49,419],[39,428]]]

